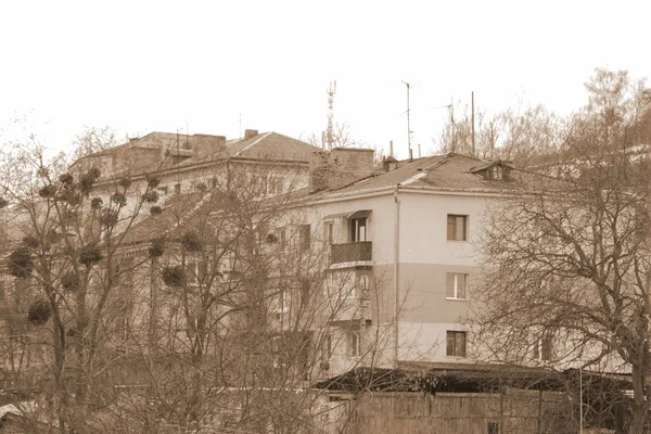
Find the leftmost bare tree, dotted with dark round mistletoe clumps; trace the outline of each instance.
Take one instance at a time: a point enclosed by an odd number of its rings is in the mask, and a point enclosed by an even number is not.
[[[101,373],[113,362],[103,352],[105,319],[128,272],[117,261],[124,233],[116,228],[128,228],[156,196],[151,186],[136,192],[123,178],[104,203],[92,195],[102,177],[98,168],[75,177],[65,171],[63,155],[48,161],[34,142],[1,156],[0,202],[12,241],[7,271],[14,278],[14,299],[28,306],[25,311],[17,305],[16,314],[25,316],[29,349],[46,354],[30,371],[46,397],[41,417],[62,433],[85,432],[91,408],[105,404]],[[127,207],[129,194],[135,197]]]

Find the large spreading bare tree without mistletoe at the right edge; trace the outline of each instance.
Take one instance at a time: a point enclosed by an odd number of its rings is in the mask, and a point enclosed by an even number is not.
[[[610,91],[599,87],[559,132],[562,179],[513,174],[516,188],[490,207],[476,326],[492,360],[629,369],[626,432],[642,433],[651,395],[651,178],[648,156],[627,150],[647,107],[639,97],[621,104],[623,77],[611,78]]]

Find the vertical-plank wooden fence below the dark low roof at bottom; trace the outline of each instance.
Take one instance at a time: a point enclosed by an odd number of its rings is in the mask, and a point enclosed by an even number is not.
[[[334,403],[333,403],[334,404]],[[342,403],[337,403],[341,405]],[[349,400],[333,432],[346,434],[570,434],[578,432],[562,393],[366,393]],[[344,414],[345,413],[345,414]],[[333,421],[334,422],[334,421]],[[337,426],[339,425],[339,426]],[[331,431],[331,430],[327,430]]]

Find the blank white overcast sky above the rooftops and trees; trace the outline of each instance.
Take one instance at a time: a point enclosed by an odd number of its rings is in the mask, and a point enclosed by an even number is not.
[[[424,154],[451,98],[567,113],[597,66],[650,77],[650,20],[649,0],[3,1],[0,143],[17,126],[62,150],[85,126],[237,138],[240,114],[320,133],[336,80],[335,120],[404,157],[404,80]]]

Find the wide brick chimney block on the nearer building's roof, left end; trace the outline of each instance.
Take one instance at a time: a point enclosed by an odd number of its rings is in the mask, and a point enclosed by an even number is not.
[[[314,152],[309,164],[309,190],[333,190],[373,175],[373,150],[334,148]]]

